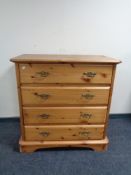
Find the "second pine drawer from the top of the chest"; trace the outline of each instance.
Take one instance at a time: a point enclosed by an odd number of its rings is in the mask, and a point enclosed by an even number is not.
[[[108,104],[110,87],[21,87],[22,103],[28,105]]]

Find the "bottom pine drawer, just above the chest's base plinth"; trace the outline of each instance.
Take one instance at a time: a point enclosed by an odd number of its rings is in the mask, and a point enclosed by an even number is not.
[[[94,140],[103,139],[104,125],[25,126],[25,140]]]

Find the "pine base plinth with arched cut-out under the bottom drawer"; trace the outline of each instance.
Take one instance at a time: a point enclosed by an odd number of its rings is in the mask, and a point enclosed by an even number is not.
[[[30,153],[42,148],[59,148],[59,147],[83,147],[91,148],[95,151],[105,151],[109,140],[105,137],[102,140],[76,140],[76,141],[24,141],[20,139],[20,151]]]

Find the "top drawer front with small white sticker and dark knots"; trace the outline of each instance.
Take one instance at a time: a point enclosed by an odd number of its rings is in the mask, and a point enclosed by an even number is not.
[[[111,65],[20,64],[21,83],[111,83]]]

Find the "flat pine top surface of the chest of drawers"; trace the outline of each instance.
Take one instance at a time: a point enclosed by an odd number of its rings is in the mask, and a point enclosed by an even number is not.
[[[45,55],[23,54],[11,58],[15,63],[91,63],[91,64],[118,64],[118,59],[103,55]]]

